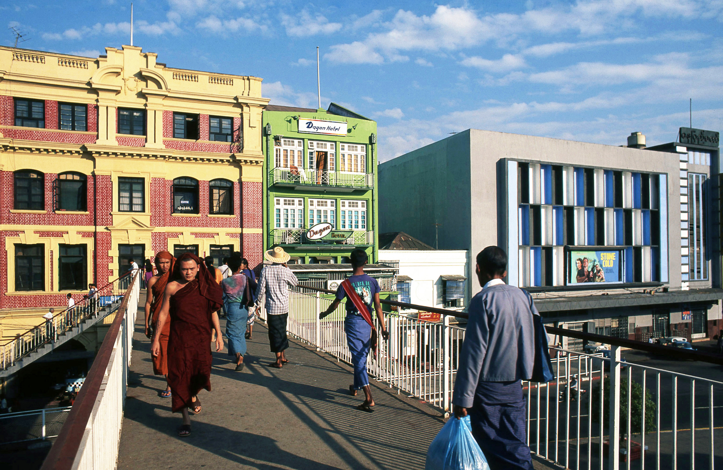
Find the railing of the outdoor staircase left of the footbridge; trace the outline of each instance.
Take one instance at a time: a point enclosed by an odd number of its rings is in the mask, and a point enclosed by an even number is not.
[[[0,370],[7,370],[28,354],[48,343],[53,343],[59,336],[67,334],[80,323],[93,318],[100,319],[113,313],[121,304],[130,279],[129,274],[124,274],[113,282],[100,287],[94,297],[86,298],[73,307],[56,313],[51,321],[45,321],[42,325],[30,328],[12,341],[0,346]],[[138,290],[139,284],[134,285]]]

